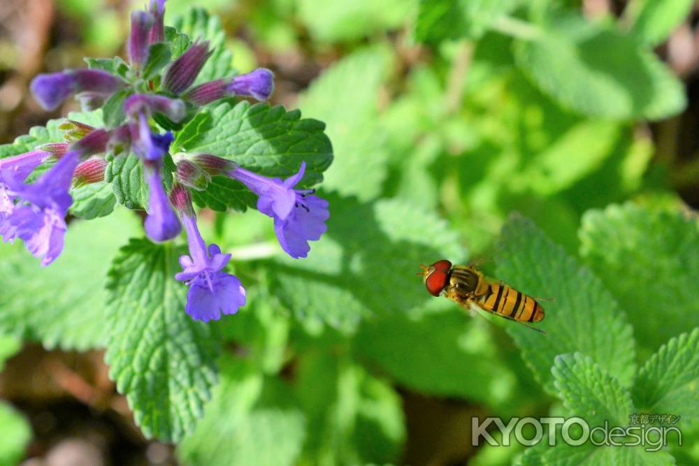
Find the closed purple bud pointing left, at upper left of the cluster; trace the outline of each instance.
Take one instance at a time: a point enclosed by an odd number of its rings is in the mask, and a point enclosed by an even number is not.
[[[45,110],[54,110],[75,92],[99,92],[111,94],[124,85],[124,81],[101,70],[65,70],[60,73],[41,74],[31,80],[31,93]]]

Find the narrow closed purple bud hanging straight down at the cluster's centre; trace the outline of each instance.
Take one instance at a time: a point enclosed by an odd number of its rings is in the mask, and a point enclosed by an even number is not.
[[[165,193],[161,179],[160,161],[144,161],[146,181],[150,189],[148,195],[148,216],[145,217],[145,233],[154,242],[163,242],[175,238],[182,231],[180,220]]]

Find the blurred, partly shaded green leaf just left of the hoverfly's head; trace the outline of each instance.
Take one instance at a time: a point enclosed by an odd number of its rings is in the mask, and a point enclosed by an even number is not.
[[[310,243],[308,258],[280,259],[271,274],[282,303],[310,330],[328,324],[352,333],[370,314],[421,310],[433,298],[415,276],[418,265],[466,256],[431,211],[398,200],[321,196],[330,203],[327,233]]]

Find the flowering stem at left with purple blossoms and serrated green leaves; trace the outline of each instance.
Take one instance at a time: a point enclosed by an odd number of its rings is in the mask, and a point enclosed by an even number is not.
[[[88,58],[87,68],[32,80],[34,99],[45,110],[75,96],[83,111],[33,129],[40,138],[30,134],[2,147],[0,235],[3,242],[24,242],[41,266],[50,268],[63,253],[70,255],[69,248],[86,247],[64,244],[71,219],[106,217],[117,205],[143,212],[147,239],[131,240],[110,270],[113,328],[106,358],[146,435],[177,439],[201,413],[180,414],[186,425],[147,418],[152,415],[142,407],[147,394],[131,384],[134,350],[122,352],[137,330],[124,326],[138,327],[140,318],[159,315],[181,327],[178,338],[193,349],[175,349],[165,365],[157,358],[150,364],[163,381],[173,367],[192,370],[204,388],[192,402],[201,406],[215,381],[215,364],[207,357],[215,344],[206,326],[195,321],[236,314],[250,296],[245,281],[227,271],[235,257],[207,245],[195,205],[238,212],[257,207],[272,217],[280,249],[304,258],[309,242],[326,231],[329,203],[309,188],[322,180],[332,152],[321,122],[245,100],[268,100],[273,73],[257,68],[236,74],[215,17],[192,10],[194,21],[166,27],[165,8],[165,0],[153,0],[131,15],[128,61]],[[189,251],[180,254],[173,245],[182,230]],[[104,250],[103,245],[92,252],[94,261],[108,259]],[[176,256],[179,270],[171,266]],[[139,273],[158,281],[139,281]],[[139,300],[138,293],[147,297]],[[193,367],[191,358],[204,362]]]

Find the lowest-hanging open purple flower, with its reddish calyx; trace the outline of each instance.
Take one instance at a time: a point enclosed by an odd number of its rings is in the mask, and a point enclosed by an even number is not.
[[[221,254],[217,245],[209,245],[196,227],[189,191],[180,185],[173,187],[173,203],[178,207],[187,231],[189,256],[180,256],[182,272],[175,278],[189,285],[187,314],[201,321],[218,320],[222,314],[235,314],[245,305],[245,288],[235,275],[223,271],[231,254]]]

